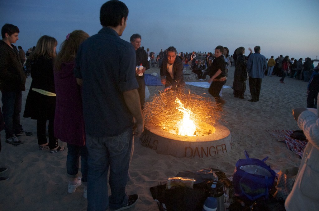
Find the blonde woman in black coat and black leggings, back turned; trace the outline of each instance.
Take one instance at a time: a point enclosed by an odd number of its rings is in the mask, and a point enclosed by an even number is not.
[[[50,153],[64,151],[54,136],[53,122],[56,109],[56,94],[53,77],[53,62],[56,57],[57,41],[44,35],[38,40],[31,55],[32,82],[23,117],[37,120],[37,136],[40,150],[50,149]],[[49,142],[46,137],[48,123]]]

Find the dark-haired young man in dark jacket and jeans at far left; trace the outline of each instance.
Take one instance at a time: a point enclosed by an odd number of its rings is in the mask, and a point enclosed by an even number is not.
[[[26,75],[23,72],[16,43],[19,39],[19,28],[4,24],[0,41],[0,89],[2,92],[2,112],[4,117],[5,142],[13,145],[22,144],[17,138],[20,135],[32,135],[22,129],[20,112],[22,91],[26,90]]]

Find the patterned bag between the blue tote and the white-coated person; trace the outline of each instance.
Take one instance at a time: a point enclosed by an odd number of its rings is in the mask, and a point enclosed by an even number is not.
[[[276,192],[274,197],[278,200],[285,201],[287,196],[293,189],[293,183],[295,182],[298,167],[282,168],[280,169],[278,181],[276,185]]]

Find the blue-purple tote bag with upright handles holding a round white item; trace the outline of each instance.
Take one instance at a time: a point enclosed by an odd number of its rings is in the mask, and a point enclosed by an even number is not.
[[[265,164],[268,156],[263,160],[249,158],[246,150],[245,156],[246,159],[239,159],[236,163],[233,175],[234,196],[250,201],[261,197],[268,199],[276,176],[270,166]]]

